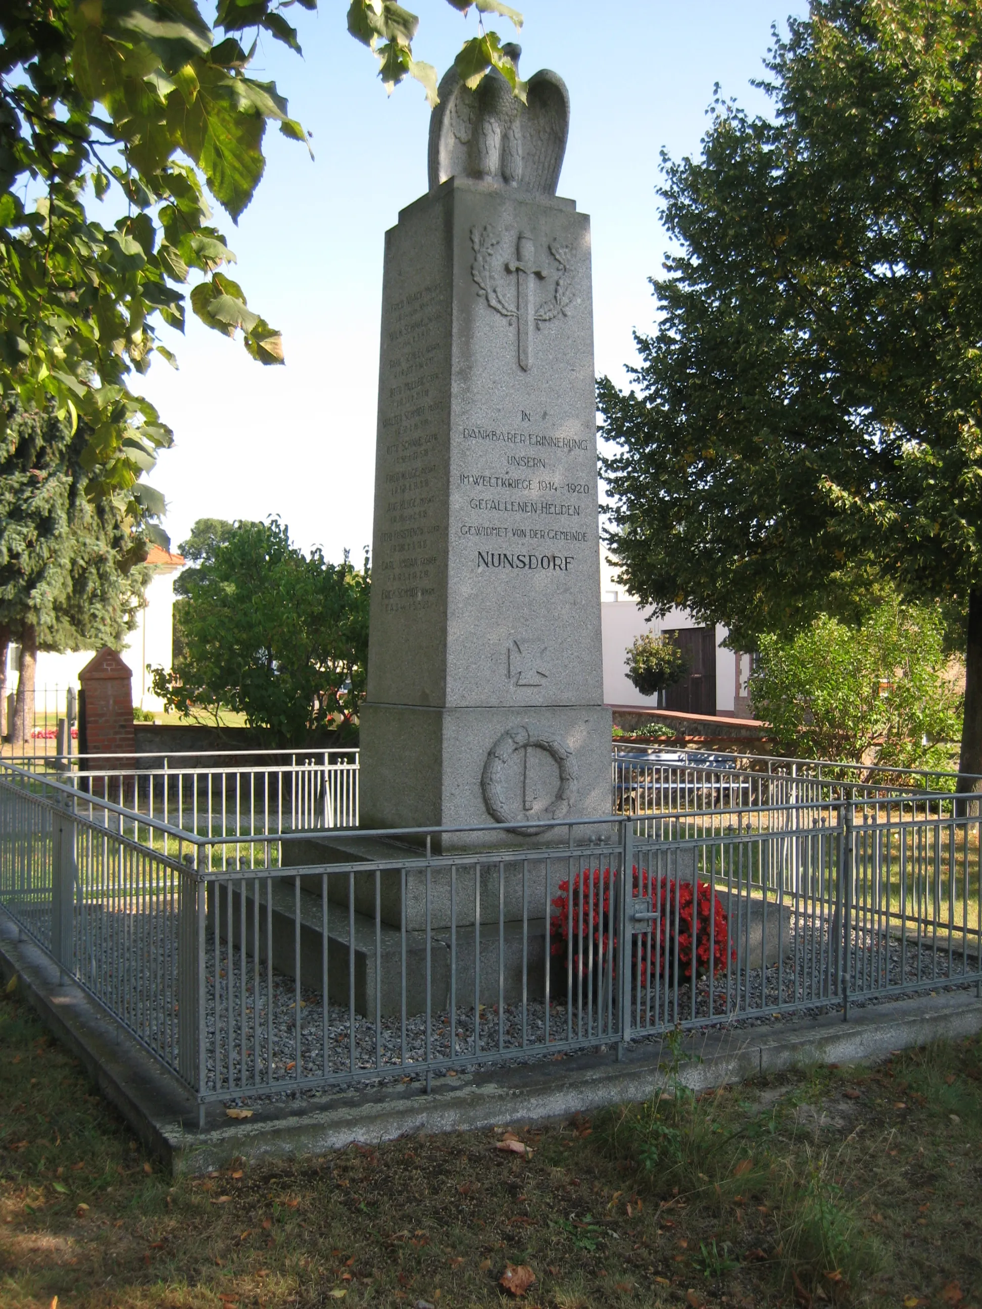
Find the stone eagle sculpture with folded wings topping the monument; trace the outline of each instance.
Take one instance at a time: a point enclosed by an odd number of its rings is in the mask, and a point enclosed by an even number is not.
[[[517,65],[521,47],[504,46]],[[543,68],[528,82],[528,105],[492,68],[477,90],[457,69],[440,82],[429,119],[429,190],[450,177],[473,177],[532,195],[555,195],[570,130],[570,94],[558,73]]]

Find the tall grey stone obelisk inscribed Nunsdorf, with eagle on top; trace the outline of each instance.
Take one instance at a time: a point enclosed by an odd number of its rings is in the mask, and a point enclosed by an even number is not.
[[[511,47],[517,58],[517,47]],[[450,69],[429,192],[386,234],[363,827],[610,813],[589,219],[568,96]]]

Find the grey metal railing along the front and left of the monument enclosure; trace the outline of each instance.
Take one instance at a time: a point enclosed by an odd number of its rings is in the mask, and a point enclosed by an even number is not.
[[[203,1114],[979,988],[966,808],[856,796],[728,826],[690,810],[314,840],[143,816],[136,840],[123,806],[8,768],[0,903]]]

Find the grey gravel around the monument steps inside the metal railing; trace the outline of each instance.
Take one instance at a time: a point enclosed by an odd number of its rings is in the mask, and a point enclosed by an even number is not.
[[[89,949],[80,959],[80,971],[93,991],[97,991],[94,983],[101,979],[101,997],[107,1007],[124,1014],[128,1025],[168,1062],[177,1063],[174,927],[174,918],[166,914],[153,918],[107,914],[102,922],[90,915]],[[702,978],[697,982],[694,997],[682,979],[676,991],[670,979],[666,987],[665,979],[656,974],[649,994],[646,996],[642,992],[640,1007],[635,990],[634,1034],[649,1028],[655,1037],[677,1021],[711,1021],[710,991],[712,1018],[735,1030],[770,1025],[782,1017],[800,1017],[800,1009],[783,1016],[761,1012],[778,1004],[809,1004],[808,1013],[838,1008],[841,1001],[831,994],[827,977],[827,935],[820,935],[817,925],[805,922],[804,929],[792,932],[788,946],[792,957],[780,969],[770,966],[763,973],[753,969],[740,974],[733,970],[729,978],[720,973],[712,986],[708,978]],[[860,939],[854,933],[851,950],[854,990],[850,1004],[855,1007],[889,1004],[907,997],[917,994],[907,987],[923,982],[932,983],[937,990],[974,984],[962,980],[965,970],[957,954],[949,958],[947,949],[935,950],[924,942],[918,945],[917,940],[907,940],[905,945],[884,936],[865,935]],[[970,956],[968,971],[974,966],[974,957]],[[300,992],[297,1050],[297,990],[293,978],[274,974],[270,1004],[267,973],[262,966],[257,1012],[254,959],[246,957],[244,962],[242,952],[229,950],[227,941],[219,942],[216,957],[212,933],[206,939],[204,970],[207,1085],[211,1090],[228,1090],[229,1105],[240,1102],[242,1090],[257,1083],[274,1084],[270,1090],[259,1093],[263,1098],[313,1098],[325,1094],[323,1085],[299,1086],[297,1081],[327,1077],[334,1083],[329,1089],[347,1089],[352,1077],[361,1085],[426,1079],[427,1059],[453,1059],[457,1066],[453,1073],[458,1076],[466,1076],[477,1062],[492,1068],[562,1058],[562,1051],[571,1043],[584,1047],[602,1045],[609,1031],[606,1022],[602,1028],[597,1024],[596,990],[591,996],[584,983],[581,994],[573,994],[570,1012],[566,1004],[550,1005],[549,1034],[546,1007],[541,1000],[529,1003],[524,1014],[521,1005],[505,1005],[500,1022],[496,1005],[482,1005],[477,1050],[473,1004],[457,1008],[453,1031],[449,1012],[441,1009],[431,1014],[428,1031],[426,1016],[414,1014],[407,1017],[405,1028],[398,1017],[382,1018],[377,1033],[373,1020],[356,1016],[350,1024],[347,1007],[330,1004],[325,1041],[321,995],[304,987]],[[898,990],[886,995],[884,986]],[[558,978],[554,974],[553,995],[562,995],[566,1000],[564,970]],[[223,1033],[217,1042],[216,1008],[221,1014]],[[606,1011],[606,997],[601,1008]],[[233,1034],[230,1043],[225,1035],[229,1030]],[[445,1071],[433,1075],[444,1076]],[[251,1103],[255,1094],[245,1098]]]

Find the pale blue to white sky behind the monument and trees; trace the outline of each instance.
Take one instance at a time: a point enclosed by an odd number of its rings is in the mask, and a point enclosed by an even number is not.
[[[655,321],[648,278],[668,238],[656,187],[663,147],[694,154],[714,85],[753,113],[766,96],[771,25],[805,4],[788,0],[526,0],[521,72],[553,68],[570,89],[570,141],[559,195],[591,215],[596,369],[615,381],[636,357],[634,330]],[[414,54],[441,75],[477,31],[444,0],[415,0]],[[175,547],[200,517],[279,517],[305,550],[360,562],[372,539],[382,250],[398,212],[427,190],[429,110],[411,81],[388,97],[371,51],[352,41],[340,0],[289,10],[304,58],[272,39],[254,76],[275,80],[313,134],[266,135],[267,166],[236,226],[215,223],[238,257],[230,270],[251,309],[283,332],[285,367],[263,368],[240,343],[189,312],[178,356],[157,359],[135,389],[174,431],[148,480],[168,501]],[[610,21],[615,16],[615,21]],[[507,20],[487,22],[516,39]]]

